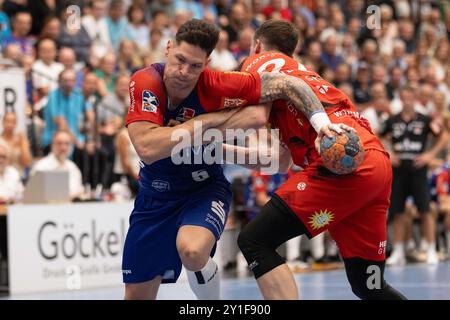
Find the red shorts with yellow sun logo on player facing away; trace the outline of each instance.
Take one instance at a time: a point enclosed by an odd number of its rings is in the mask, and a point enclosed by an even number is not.
[[[391,183],[388,156],[366,150],[363,163],[351,175],[334,175],[318,161],[291,176],[275,193],[300,218],[308,237],[328,230],[344,258],[381,261]]]

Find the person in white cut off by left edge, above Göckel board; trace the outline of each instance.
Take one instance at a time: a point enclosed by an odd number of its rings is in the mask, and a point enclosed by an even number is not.
[[[20,201],[23,196],[23,185],[19,172],[9,165],[11,150],[0,140],[0,204]]]

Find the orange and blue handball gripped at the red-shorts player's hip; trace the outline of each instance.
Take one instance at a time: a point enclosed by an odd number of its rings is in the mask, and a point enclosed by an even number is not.
[[[325,167],[336,174],[349,174],[364,160],[364,147],[358,134],[343,130],[332,131],[333,137],[324,136],[320,141],[320,156]]]

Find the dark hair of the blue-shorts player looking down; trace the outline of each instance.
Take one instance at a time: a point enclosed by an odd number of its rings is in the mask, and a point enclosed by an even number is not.
[[[219,29],[205,21],[191,19],[178,29],[175,40],[177,44],[184,41],[198,46],[209,56],[219,41]]]

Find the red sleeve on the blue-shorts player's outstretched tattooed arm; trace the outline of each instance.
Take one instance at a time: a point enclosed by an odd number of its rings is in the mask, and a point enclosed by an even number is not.
[[[197,84],[206,112],[255,105],[261,97],[261,79],[253,72],[218,72],[206,69]]]

